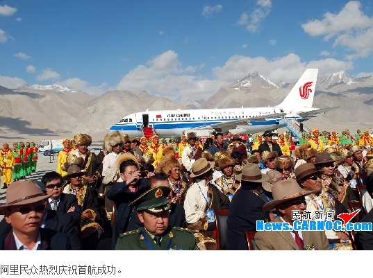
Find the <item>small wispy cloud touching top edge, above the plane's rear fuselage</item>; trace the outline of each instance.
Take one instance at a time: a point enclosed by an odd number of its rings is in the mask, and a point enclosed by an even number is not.
[[[248,12],[243,12],[240,19],[238,20],[238,25],[246,26],[247,31],[251,33],[256,33],[259,31],[261,23],[270,14],[272,8],[271,0],[258,0],[256,1],[256,6],[250,14]]]

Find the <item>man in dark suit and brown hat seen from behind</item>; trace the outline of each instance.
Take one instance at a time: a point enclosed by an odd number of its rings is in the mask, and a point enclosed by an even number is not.
[[[265,202],[258,196],[262,182],[266,182],[268,176],[260,173],[257,164],[249,163],[242,167],[242,174],[237,179],[241,180],[241,187],[233,196],[226,220],[227,250],[247,250],[244,231],[256,232],[257,220],[270,219],[263,211]]]

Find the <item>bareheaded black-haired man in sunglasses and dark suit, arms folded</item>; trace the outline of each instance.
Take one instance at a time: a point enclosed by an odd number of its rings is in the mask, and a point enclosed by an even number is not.
[[[78,206],[76,196],[63,193],[63,177],[55,171],[45,173],[42,184],[47,195],[51,195],[47,202],[47,209],[58,211],[60,214],[70,214],[74,225],[81,223],[81,208]],[[42,189],[43,190],[43,189]]]

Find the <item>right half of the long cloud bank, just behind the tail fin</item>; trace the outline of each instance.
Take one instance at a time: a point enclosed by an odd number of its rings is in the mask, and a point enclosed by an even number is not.
[[[331,58],[308,63],[301,62],[301,58],[294,53],[273,60],[268,60],[260,56],[251,58],[242,55],[233,55],[226,61],[223,67],[213,68],[213,74],[217,80],[225,83],[225,85],[240,80],[254,71],[258,71],[258,73],[274,82],[279,82],[280,80],[294,82],[308,68],[320,69],[319,76],[323,76],[341,70],[353,69],[353,65],[351,62]]]

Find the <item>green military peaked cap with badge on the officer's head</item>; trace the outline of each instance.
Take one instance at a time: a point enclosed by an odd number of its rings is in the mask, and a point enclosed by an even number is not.
[[[129,205],[135,206],[138,211],[147,211],[150,214],[168,211],[170,206],[166,196],[169,195],[170,191],[171,189],[167,186],[153,187]]]

